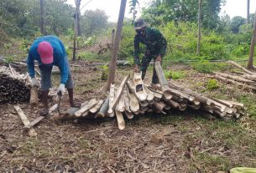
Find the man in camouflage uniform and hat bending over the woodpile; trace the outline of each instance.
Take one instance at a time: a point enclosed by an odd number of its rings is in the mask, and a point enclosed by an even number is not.
[[[134,72],[138,73],[138,67],[141,65],[140,71],[142,72],[142,79],[144,79],[151,59],[154,59],[154,62],[162,61],[163,56],[165,55],[167,43],[162,33],[160,33],[159,30],[155,28],[149,28],[148,24],[145,23],[142,18],[138,18],[135,21],[134,29],[137,33],[134,37]],[[146,51],[144,53],[144,57],[141,63],[138,56],[139,43],[143,43],[146,45]],[[158,83],[159,79],[154,69],[152,84]]]

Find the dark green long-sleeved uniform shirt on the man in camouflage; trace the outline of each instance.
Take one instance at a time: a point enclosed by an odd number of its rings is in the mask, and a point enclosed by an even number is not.
[[[158,29],[155,28],[146,28],[145,35],[136,34],[134,37],[134,63],[140,64],[139,61],[139,43],[143,43],[146,45],[147,50],[151,54],[164,56],[166,51],[166,39],[159,32]]]

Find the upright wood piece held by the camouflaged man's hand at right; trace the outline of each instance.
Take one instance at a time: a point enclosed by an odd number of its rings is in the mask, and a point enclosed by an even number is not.
[[[161,90],[163,91],[163,93],[165,95],[165,98],[166,98],[166,96],[169,97],[170,96],[170,94],[169,94],[170,88],[169,88],[167,80],[165,79],[165,74],[164,74],[164,71],[161,67],[161,62],[160,61],[156,61],[154,63],[154,69],[155,69],[156,74],[158,76],[159,83],[161,84]]]

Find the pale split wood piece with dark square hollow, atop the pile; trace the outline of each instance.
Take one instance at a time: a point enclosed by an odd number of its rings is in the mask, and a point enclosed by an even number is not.
[[[144,90],[144,83],[141,79],[141,74],[142,72],[134,73],[133,83],[134,83],[135,94],[137,95],[138,99],[140,101],[144,101],[147,99],[148,95]]]

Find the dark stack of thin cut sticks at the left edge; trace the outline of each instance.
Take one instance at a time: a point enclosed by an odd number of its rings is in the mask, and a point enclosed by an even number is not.
[[[10,65],[0,67],[0,103],[29,101],[29,76],[18,74]]]

